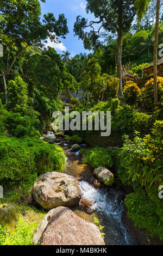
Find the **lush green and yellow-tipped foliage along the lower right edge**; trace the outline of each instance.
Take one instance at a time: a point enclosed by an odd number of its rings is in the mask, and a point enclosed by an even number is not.
[[[163,201],[158,197],[158,188],[163,182],[163,121],[154,123],[151,135],[144,138],[140,138],[138,132],[135,135],[134,141],[130,141],[128,136],[124,137],[118,175],[123,184],[132,186],[135,192],[142,187],[146,196],[145,199],[136,199],[139,203],[126,199],[126,205],[129,216],[137,227],[146,228],[151,235],[163,239],[160,233]],[[130,197],[132,194],[128,196]]]

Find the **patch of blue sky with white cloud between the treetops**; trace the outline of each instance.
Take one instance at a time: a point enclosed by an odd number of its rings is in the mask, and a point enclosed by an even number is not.
[[[41,2],[42,15],[53,13],[57,19],[59,14],[64,13],[67,19],[69,34],[66,35],[66,39],[61,39],[61,44],[54,44],[48,40],[48,45],[54,47],[58,53],[68,51],[71,53],[71,57],[73,57],[80,52],[89,52],[84,49],[83,41],[78,40],[78,37],[73,35],[73,25],[78,15],[88,20],[93,19],[93,15],[87,15],[85,7],[85,0],[46,0],[46,3]]]

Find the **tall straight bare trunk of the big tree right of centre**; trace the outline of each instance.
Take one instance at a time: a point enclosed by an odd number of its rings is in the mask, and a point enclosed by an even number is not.
[[[117,76],[120,79],[119,89],[118,89],[118,97],[123,96],[122,92],[122,33],[120,31],[117,32]]]

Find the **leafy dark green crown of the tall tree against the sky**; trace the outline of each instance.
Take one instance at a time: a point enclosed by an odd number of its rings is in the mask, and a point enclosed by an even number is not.
[[[135,16],[134,2],[131,0],[117,4],[117,1],[107,0],[104,2],[99,0],[97,2],[96,0],[89,0],[87,1],[87,13],[93,13],[96,18],[103,21],[101,28],[103,27],[106,34],[109,32],[124,34],[129,31]],[[78,35],[84,41],[84,47],[87,49],[91,49],[93,46],[96,48],[100,45],[99,35],[94,33],[95,23],[97,22],[92,21],[89,24],[87,19],[78,16],[74,24],[75,35]],[[90,27],[90,32],[84,31],[87,27]],[[101,28],[99,28],[99,31]]]

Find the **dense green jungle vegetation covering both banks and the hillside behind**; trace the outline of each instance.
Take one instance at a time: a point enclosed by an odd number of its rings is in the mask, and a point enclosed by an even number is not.
[[[102,6],[104,1],[98,2]],[[91,149],[80,150],[83,163],[92,169],[113,168],[124,187],[132,191],[124,200],[130,220],[146,229],[147,236],[163,240],[163,199],[158,197],[163,185],[163,70],[157,77],[157,104],[154,77],[144,72],[153,61],[158,1],[148,1],[151,3],[140,22],[135,1],[119,1],[121,7],[116,8],[117,1],[106,2],[112,4],[115,23],[116,12],[123,10],[123,26],[116,29],[105,23],[97,1],[87,0],[87,12],[99,18],[104,32],[83,32],[87,23],[78,16],[74,34],[91,51],[70,57],[68,51],[58,54],[44,45],[48,38],[57,42],[67,35],[64,14],[56,17],[48,13],[41,19],[38,0],[0,0],[0,185],[4,188],[0,202],[1,206],[14,203],[20,211],[14,233],[0,223],[0,245],[32,244],[34,229],[45,212],[24,204],[24,198],[37,176],[65,170],[62,148],[40,139],[52,130],[53,112],[64,113],[65,106],[79,113],[111,111],[109,137],[101,137],[101,131],[95,130],[66,131],[65,139],[89,143]],[[158,46],[163,39],[162,8],[160,5]],[[122,66],[117,33],[122,39]],[[124,76],[120,81],[120,70],[121,75],[131,72],[133,79]],[[120,86],[123,99],[117,97]],[[62,93],[66,104],[62,103]],[[80,93],[82,99],[77,97]]]

